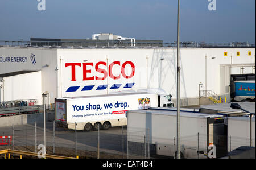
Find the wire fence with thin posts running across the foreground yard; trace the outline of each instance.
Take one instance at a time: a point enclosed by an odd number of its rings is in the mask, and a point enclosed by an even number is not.
[[[12,139],[9,145],[0,145],[0,150],[39,152],[44,144],[44,123],[34,122],[27,125],[0,127],[0,136],[11,136]],[[214,155],[218,157],[224,155],[225,151],[230,152],[240,146],[249,146],[250,139],[235,136],[208,136],[200,133],[181,136],[180,156],[187,159],[207,158],[213,149],[209,147],[212,143],[216,147]],[[255,139],[252,145],[255,146]],[[158,135],[152,136],[150,128],[135,128],[127,132],[127,126],[120,126],[111,127],[109,130],[85,132],[56,127],[54,121],[46,122],[46,154],[80,158],[148,159],[176,158],[176,151],[176,136],[158,138]]]

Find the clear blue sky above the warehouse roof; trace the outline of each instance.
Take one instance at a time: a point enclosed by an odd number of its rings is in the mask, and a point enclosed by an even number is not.
[[[180,0],[180,40],[255,43],[255,0]],[[136,39],[177,40],[177,0],[0,0],[0,40],[91,38],[112,32]]]

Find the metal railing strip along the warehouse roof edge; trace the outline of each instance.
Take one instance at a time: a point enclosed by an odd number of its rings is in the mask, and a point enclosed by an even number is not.
[[[129,42],[120,40],[80,40],[80,41],[40,41],[40,40],[0,40],[0,46],[18,46],[18,47],[54,47],[54,48],[84,48],[84,47],[177,47],[177,42],[164,43],[161,40],[144,40],[140,42]],[[248,42],[231,42],[231,43],[204,43],[204,42],[180,42],[180,47],[233,47],[245,48],[255,47],[255,44]]]

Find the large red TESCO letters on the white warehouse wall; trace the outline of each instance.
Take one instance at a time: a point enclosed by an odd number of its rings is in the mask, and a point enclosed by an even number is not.
[[[94,63],[65,63],[65,67],[70,67],[71,68],[71,81],[76,81],[76,67],[82,67],[82,73],[83,73],[83,81],[86,80],[105,80],[106,77],[109,75],[110,78],[117,80],[120,79],[121,76],[123,78],[129,79],[131,77],[134,76],[135,73],[135,65],[132,61],[125,61],[124,63],[122,63],[120,61],[113,61],[112,63],[109,64],[109,68],[108,69],[103,69],[103,68],[99,68],[100,65],[105,65],[105,67],[107,67],[107,63],[105,61],[99,61],[98,63],[96,63],[94,65]],[[119,65],[121,66],[121,73],[119,73],[119,75],[114,76],[113,74],[113,67],[114,65]],[[129,75],[127,75],[125,73],[125,68],[127,67],[127,65],[130,65],[131,67],[131,73]],[[92,77],[88,77],[87,73],[92,73],[92,69],[95,69],[96,72],[98,73],[102,73],[102,77],[98,77],[98,76],[92,76]]]

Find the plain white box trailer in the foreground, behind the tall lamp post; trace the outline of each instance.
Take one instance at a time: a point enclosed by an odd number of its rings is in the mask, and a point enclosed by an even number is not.
[[[175,156],[176,114],[176,111],[163,109],[128,111],[128,147],[143,145],[141,139],[148,134],[151,156]],[[217,114],[180,111],[180,149],[181,157],[184,158],[225,156],[224,117]],[[129,152],[133,154],[131,149]]]

